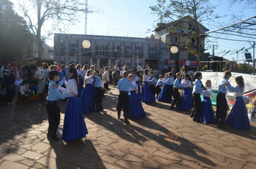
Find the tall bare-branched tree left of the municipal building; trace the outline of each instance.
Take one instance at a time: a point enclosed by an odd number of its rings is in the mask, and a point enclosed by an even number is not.
[[[42,44],[47,38],[42,36],[42,26],[45,22],[52,21],[54,29],[55,26],[66,26],[67,22],[75,24],[77,17],[81,16],[78,14],[80,11],[94,12],[86,9],[86,3],[81,3],[80,0],[24,0],[20,2],[20,7],[37,39],[38,65],[42,64]]]

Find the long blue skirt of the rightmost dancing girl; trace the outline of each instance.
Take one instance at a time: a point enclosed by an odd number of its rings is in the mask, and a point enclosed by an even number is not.
[[[247,115],[247,109],[242,97],[236,97],[236,102],[229,112],[229,116],[225,121],[226,125],[234,127],[234,129],[250,130],[250,121]]]

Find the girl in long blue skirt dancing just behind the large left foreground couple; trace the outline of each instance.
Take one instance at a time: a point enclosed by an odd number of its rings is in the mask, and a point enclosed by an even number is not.
[[[93,87],[93,71],[89,69],[86,72],[86,77],[83,84],[83,92],[81,95],[81,104],[83,108],[83,112],[94,112],[95,104],[94,104],[94,87]]]

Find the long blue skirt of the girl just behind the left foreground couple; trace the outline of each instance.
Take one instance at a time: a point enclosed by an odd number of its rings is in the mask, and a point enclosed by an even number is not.
[[[94,92],[93,86],[91,84],[86,84],[86,87],[83,88],[83,92],[81,95],[81,105],[83,108],[83,112],[94,112],[95,104],[94,104]]]

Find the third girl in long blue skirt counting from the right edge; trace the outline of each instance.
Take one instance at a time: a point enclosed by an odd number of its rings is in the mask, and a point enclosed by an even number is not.
[[[188,82],[188,84],[187,84]],[[192,90],[191,87],[193,87],[191,77],[188,74],[184,75],[184,79],[181,80],[181,84],[186,84],[185,87],[183,87],[182,94],[181,94],[181,102],[180,102],[180,110],[186,111],[193,109],[193,97],[192,97]]]

